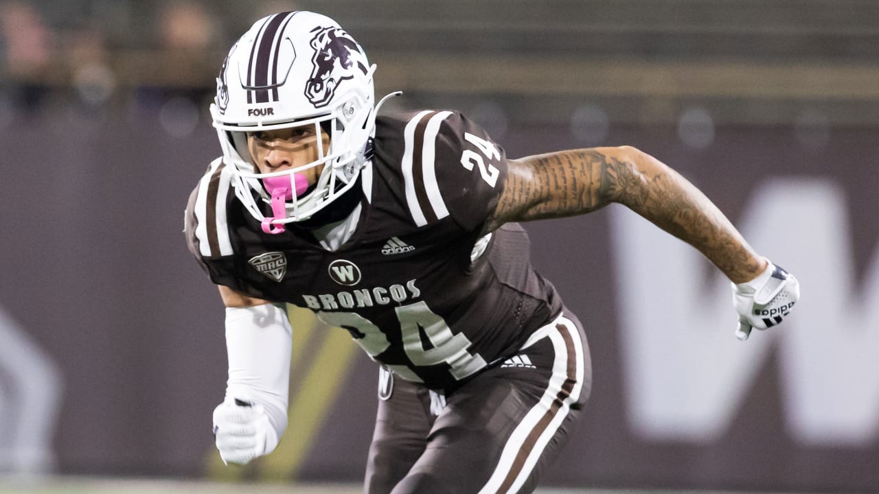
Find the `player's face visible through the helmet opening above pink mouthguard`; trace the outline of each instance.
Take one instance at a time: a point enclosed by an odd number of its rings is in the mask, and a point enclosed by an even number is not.
[[[324,155],[330,148],[329,136],[321,131]],[[314,125],[277,128],[247,133],[247,149],[260,173],[284,171],[312,163],[317,156],[317,134]],[[309,168],[301,173],[315,184],[323,165]]]

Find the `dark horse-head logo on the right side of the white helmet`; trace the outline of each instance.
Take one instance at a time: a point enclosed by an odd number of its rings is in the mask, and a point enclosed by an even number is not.
[[[351,35],[339,27],[318,27],[312,31],[311,47],[315,49],[311,76],[305,84],[305,96],[316,108],[326,105],[338,84],[354,76],[354,70],[367,74],[366,55]]]

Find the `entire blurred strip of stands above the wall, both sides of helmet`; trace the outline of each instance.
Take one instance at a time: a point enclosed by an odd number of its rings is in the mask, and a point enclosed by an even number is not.
[[[703,148],[724,123],[792,124],[810,143],[879,125],[875,0],[0,0],[0,128],[149,111],[188,135],[231,43],[293,10],[356,31],[377,88],[460,109],[497,138],[549,121],[592,145],[617,122],[660,123]]]

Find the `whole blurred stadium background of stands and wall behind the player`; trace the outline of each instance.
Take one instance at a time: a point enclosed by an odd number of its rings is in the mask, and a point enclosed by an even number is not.
[[[0,0],[0,492],[359,490],[374,367],[296,309],[291,427],[222,466],[222,307],[180,235],[226,51],[301,9],[389,108],[508,156],[636,145],[803,283],[740,344],[725,282],[630,214],[527,225],[595,367],[544,492],[879,492],[875,0]]]

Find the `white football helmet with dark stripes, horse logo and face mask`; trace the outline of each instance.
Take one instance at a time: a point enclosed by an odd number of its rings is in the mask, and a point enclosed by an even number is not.
[[[307,11],[259,19],[229,50],[211,116],[236,195],[266,233],[307,220],[356,183],[374,135],[374,70],[336,21]],[[259,173],[246,133],[304,125],[315,126],[318,159]],[[326,153],[322,128],[330,136]],[[316,185],[306,189],[301,172],[319,166]],[[263,214],[265,204],[273,216]]]

